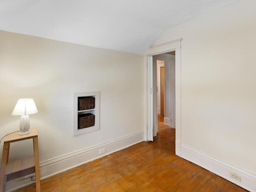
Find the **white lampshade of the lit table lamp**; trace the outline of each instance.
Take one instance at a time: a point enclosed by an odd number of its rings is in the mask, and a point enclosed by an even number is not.
[[[33,99],[19,99],[12,115],[30,115],[37,112],[38,110]]]

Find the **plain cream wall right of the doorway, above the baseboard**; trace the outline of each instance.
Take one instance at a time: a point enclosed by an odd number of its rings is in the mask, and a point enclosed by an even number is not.
[[[182,145],[254,178],[255,10],[256,1],[241,0],[169,28],[155,43],[183,38]]]

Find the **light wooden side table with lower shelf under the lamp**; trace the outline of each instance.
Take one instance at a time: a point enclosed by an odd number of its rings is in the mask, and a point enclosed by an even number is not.
[[[4,139],[4,149],[0,169],[0,192],[5,192],[7,181],[36,174],[36,192],[40,192],[40,172],[39,172],[39,155],[38,155],[38,136],[36,129],[30,129],[30,133],[19,135],[19,132],[9,134]],[[10,143],[26,139],[33,139],[34,156],[8,162]]]

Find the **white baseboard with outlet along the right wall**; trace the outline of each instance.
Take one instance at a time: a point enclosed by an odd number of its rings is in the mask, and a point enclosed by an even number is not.
[[[250,191],[256,192],[256,175],[245,170],[212,158],[202,152],[185,145],[181,145],[181,157],[221,176],[222,178]],[[241,182],[230,177],[230,172],[241,176]]]

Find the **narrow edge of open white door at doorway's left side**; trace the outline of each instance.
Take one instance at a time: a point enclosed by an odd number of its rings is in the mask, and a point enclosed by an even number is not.
[[[153,141],[153,56],[147,57],[148,95],[148,141]]]

